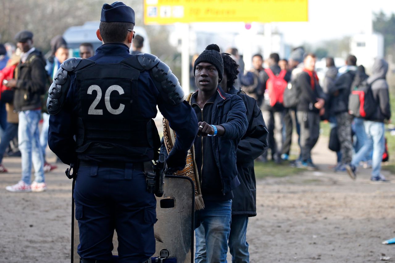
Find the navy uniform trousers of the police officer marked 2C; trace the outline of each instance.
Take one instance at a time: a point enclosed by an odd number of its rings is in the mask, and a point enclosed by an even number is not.
[[[119,263],[143,262],[155,253],[156,199],[147,192],[143,165],[80,166],[74,199],[82,258],[110,260],[114,230]]]

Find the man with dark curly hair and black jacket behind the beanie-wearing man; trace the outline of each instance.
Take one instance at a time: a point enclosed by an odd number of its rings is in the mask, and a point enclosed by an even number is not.
[[[224,74],[220,86],[228,94],[239,95],[246,106],[248,128],[237,146],[237,177],[240,186],[233,190],[231,225],[229,234],[229,251],[232,262],[249,262],[246,231],[248,217],[256,216],[256,181],[254,159],[267,149],[267,127],[256,100],[234,86],[239,74],[239,65],[228,53],[221,54],[224,61]],[[199,227],[196,234],[196,259],[206,262],[204,228]],[[199,261],[200,262],[200,261]]]

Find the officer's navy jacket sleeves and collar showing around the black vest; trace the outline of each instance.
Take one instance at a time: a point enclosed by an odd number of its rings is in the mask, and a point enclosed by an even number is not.
[[[122,43],[103,44],[96,50],[96,55],[89,59],[97,64],[119,63],[132,57],[129,48]],[[48,144],[49,148],[62,160],[63,163],[74,163],[77,159],[76,143],[73,139],[77,132],[76,113],[79,110],[79,95],[75,94],[75,75],[70,74],[71,82],[66,102],[62,110],[49,118]],[[148,71],[140,73],[138,79],[138,100],[140,112],[144,118],[153,119],[157,114],[156,105],[162,115],[169,120],[171,128],[179,134],[175,142],[177,151],[188,151],[198,132],[196,114],[188,103],[171,106],[164,102]],[[105,125],[105,124],[103,124]],[[153,152],[158,149],[152,149]],[[94,159],[93,159],[94,160]],[[149,160],[145,160],[149,161]]]

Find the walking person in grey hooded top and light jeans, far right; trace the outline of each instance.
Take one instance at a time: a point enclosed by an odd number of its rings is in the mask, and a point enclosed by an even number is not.
[[[387,181],[381,174],[381,161],[385,147],[384,123],[391,118],[388,83],[386,81],[387,70],[388,63],[384,59],[376,59],[373,64],[372,75],[367,79],[368,84],[372,87],[377,110],[372,117],[363,121],[366,133],[365,144],[354,155],[351,164],[346,166],[348,174],[354,179],[356,178],[357,165],[373,149],[371,180]]]

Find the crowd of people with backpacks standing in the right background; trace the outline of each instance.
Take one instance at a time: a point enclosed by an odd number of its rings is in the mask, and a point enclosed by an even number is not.
[[[241,63],[237,49],[230,50],[233,59]],[[386,182],[380,170],[385,151],[384,123],[391,117],[387,62],[376,59],[369,77],[363,65],[357,66],[354,55],[348,55],[345,66],[340,68],[332,57],[327,57],[321,87],[315,71],[316,60],[316,55],[305,52],[303,47],[293,49],[288,59],[272,53],[264,60],[256,54],[252,56],[252,69],[239,74],[241,89],[256,99],[269,130],[269,151],[257,161],[290,161],[294,167],[317,170],[311,150],[320,136],[320,122],[328,121],[332,129],[330,145],[336,142],[335,149],[330,147],[337,154],[335,172],[347,172],[355,179],[357,167],[372,167],[371,180]],[[361,85],[371,89],[376,114],[361,117],[350,113],[349,97]],[[300,151],[291,161],[295,128]]]

